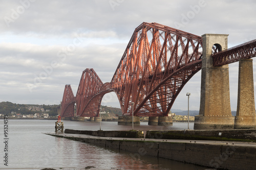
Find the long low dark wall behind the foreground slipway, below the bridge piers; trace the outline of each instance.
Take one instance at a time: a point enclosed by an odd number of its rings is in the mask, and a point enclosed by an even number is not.
[[[101,137],[185,139],[185,140],[227,140],[256,141],[256,130],[131,130],[131,131],[89,131],[65,129],[65,133],[85,134]]]

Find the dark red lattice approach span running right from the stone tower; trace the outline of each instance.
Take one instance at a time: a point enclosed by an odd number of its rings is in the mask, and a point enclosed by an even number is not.
[[[256,57],[256,39],[212,54],[214,66],[237,62],[240,59]]]

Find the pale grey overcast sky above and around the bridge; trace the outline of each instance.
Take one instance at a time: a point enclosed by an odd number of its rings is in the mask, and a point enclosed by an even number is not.
[[[74,94],[82,71],[110,82],[134,30],[157,22],[192,34],[229,34],[228,47],[256,39],[256,1],[1,0],[0,102],[59,104],[65,84]],[[254,81],[256,81],[256,62]],[[237,109],[238,63],[229,65],[231,110]],[[201,71],[173,109],[199,110]],[[254,83],[255,84],[255,83]],[[102,105],[119,107],[115,93]]]

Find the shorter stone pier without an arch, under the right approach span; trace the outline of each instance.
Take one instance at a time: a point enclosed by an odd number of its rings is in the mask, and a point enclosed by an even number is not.
[[[239,61],[238,106],[234,129],[256,129],[252,59]]]

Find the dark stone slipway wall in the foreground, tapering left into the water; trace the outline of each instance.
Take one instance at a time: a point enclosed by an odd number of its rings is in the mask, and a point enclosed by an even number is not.
[[[91,137],[61,136],[72,140],[91,143],[106,149],[133,152],[133,158],[151,155],[176,161],[193,163],[221,169],[255,169],[256,146],[248,147],[239,144],[165,142],[138,140],[97,139]],[[141,141],[140,141],[141,140]],[[154,140],[154,139],[152,139]]]

